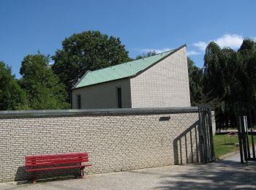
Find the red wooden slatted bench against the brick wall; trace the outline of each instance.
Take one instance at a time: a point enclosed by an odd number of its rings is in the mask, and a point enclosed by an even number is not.
[[[84,178],[83,169],[91,164],[88,162],[88,153],[63,153],[43,156],[26,156],[26,172],[33,172],[33,183],[36,180],[36,172],[47,170],[61,170],[80,168],[81,177]]]

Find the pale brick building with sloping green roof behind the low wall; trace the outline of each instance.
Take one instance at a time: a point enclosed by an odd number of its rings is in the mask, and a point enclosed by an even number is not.
[[[72,88],[73,109],[190,107],[186,45],[86,72]]]

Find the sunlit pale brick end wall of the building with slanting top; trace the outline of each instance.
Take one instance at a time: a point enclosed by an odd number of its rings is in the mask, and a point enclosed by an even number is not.
[[[186,47],[131,78],[132,107],[189,107]]]

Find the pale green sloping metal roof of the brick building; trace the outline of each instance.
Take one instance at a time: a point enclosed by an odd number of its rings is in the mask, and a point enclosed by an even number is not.
[[[97,83],[104,83],[111,80],[117,80],[125,77],[132,77],[138,72],[143,71],[152,64],[156,63],[162,58],[165,58],[168,54],[172,53],[173,50],[159,53],[155,56],[147,58],[140,58],[135,61],[129,61],[124,64],[118,64],[115,66],[109,66],[104,69],[86,72],[85,75],[78,81],[74,88],[80,88],[83,86],[91,86]]]

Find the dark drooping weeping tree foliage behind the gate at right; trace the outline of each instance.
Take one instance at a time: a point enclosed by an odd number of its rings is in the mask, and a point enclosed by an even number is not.
[[[217,114],[219,127],[233,126],[233,103],[256,102],[256,43],[244,39],[238,51],[221,49],[210,42],[206,47],[203,66],[205,104]]]

